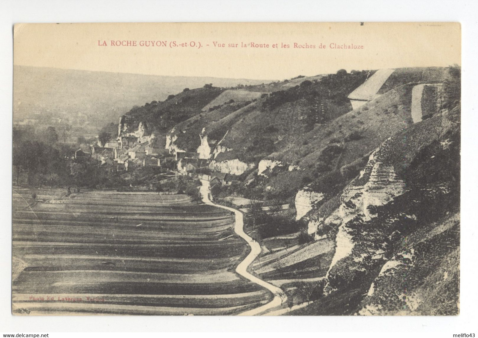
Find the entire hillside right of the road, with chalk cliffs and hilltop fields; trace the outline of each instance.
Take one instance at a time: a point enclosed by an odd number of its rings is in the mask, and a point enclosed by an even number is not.
[[[302,304],[291,314],[456,315],[460,82],[451,66],[205,86],[122,126],[206,160],[193,177],[232,174],[211,195],[248,204],[245,232],[261,245],[250,272]]]

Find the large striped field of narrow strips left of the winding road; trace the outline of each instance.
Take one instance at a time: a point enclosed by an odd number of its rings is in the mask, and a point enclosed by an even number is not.
[[[227,210],[104,191],[24,206],[13,214],[16,314],[228,315],[272,299],[235,272],[250,249]]]

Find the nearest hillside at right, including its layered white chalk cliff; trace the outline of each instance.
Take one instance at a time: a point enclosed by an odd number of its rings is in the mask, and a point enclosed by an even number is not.
[[[335,229],[336,253],[325,297],[296,315],[337,296],[359,315],[458,314],[459,120],[454,107],[396,133],[336,207],[313,216],[320,234]]]

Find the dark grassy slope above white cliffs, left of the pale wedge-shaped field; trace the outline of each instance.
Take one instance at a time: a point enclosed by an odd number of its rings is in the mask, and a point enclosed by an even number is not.
[[[225,121],[223,128],[228,128],[229,132],[223,144],[234,150],[221,155],[224,158],[239,156],[240,159],[244,149],[249,149],[248,153],[267,156],[265,149],[253,149],[254,138],[257,137],[261,138],[262,147],[264,143],[273,143],[272,151],[284,149],[313,128],[315,116],[328,121],[350,111],[352,107],[347,96],[365,76],[365,73],[332,75],[309,86],[292,87],[258,100],[256,108],[247,115]],[[320,110],[321,104],[324,114]]]

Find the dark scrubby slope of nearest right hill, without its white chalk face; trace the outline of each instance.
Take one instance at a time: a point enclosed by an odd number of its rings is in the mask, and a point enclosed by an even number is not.
[[[459,120],[457,110],[414,124],[380,147],[376,157],[395,167],[408,190],[378,207],[378,218],[348,222],[355,246],[329,276],[338,291],[295,315],[321,314],[322,305],[337,297],[347,300],[349,311],[362,309],[364,315],[457,314],[460,133],[452,122]],[[366,259],[383,248],[383,259]],[[379,275],[387,261],[398,265]],[[372,282],[374,292],[364,297]]]

